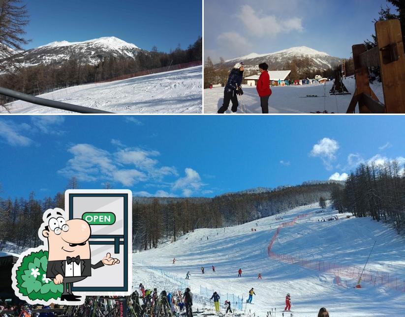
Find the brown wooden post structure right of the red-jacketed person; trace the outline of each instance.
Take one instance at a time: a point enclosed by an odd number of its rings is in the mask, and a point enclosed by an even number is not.
[[[397,19],[375,23],[377,46],[366,51],[363,44],[353,45],[356,91],[347,108],[353,114],[357,103],[361,114],[405,113],[405,55],[401,23]],[[370,87],[369,67],[380,67],[384,92],[382,104]]]

